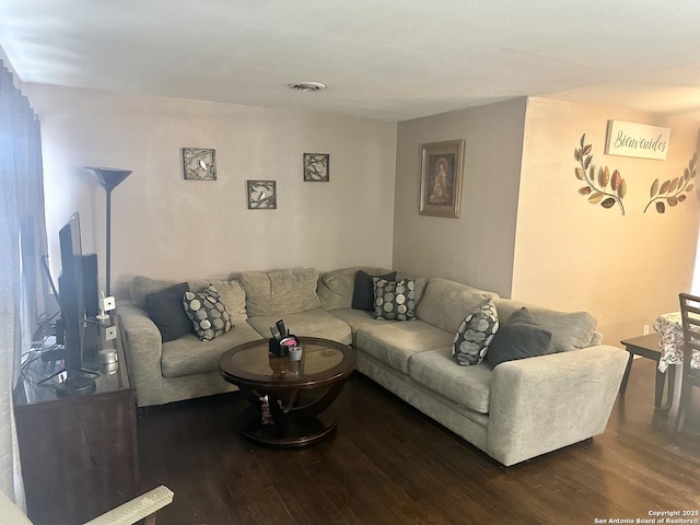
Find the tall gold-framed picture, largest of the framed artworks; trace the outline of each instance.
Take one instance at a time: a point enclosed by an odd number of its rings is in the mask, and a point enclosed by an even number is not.
[[[459,217],[464,140],[423,144],[420,178],[422,215]]]

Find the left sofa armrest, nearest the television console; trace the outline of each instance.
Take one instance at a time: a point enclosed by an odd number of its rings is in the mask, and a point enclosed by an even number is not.
[[[155,402],[159,394],[155,390],[162,380],[161,355],[163,343],[161,331],[144,310],[131,301],[119,301],[117,314],[121,320],[121,329],[126,335],[129,373],[136,387],[139,406]],[[152,397],[155,396],[153,399]]]

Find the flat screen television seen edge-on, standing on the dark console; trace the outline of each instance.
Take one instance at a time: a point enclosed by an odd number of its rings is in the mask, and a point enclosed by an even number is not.
[[[80,237],[80,215],[73,213],[58,232],[61,253],[61,273],[58,278],[58,302],[63,325],[65,381],[58,383],[57,394],[85,394],[95,389],[94,372],[82,366],[83,335],[88,322],[85,315],[85,289],[92,289],[96,275],[85,275],[85,264]],[[96,271],[96,270],[95,270]],[[95,298],[96,299],[96,298]]]

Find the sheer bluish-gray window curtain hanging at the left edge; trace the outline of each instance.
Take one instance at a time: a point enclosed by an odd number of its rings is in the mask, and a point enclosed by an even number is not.
[[[38,118],[0,60],[0,490],[22,510],[12,392],[49,299],[43,178]]]

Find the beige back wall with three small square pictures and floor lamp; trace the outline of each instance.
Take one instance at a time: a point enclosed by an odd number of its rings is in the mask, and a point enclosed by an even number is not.
[[[104,279],[105,192],[82,166],[132,170],[112,196],[112,289],[131,276],[392,266],[396,125],[320,114],[24,84],[42,119],[51,268],[75,210]],[[304,96],[302,94],[302,96]],[[184,180],[182,148],[217,150],[217,182]],[[330,154],[304,183],[302,155]],[[278,209],[248,210],[246,179],[275,179]]]

